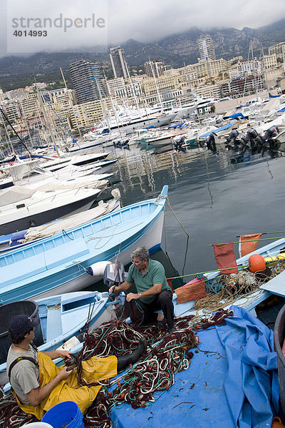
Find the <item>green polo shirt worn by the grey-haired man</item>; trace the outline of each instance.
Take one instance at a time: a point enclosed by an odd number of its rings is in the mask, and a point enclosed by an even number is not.
[[[135,283],[138,292],[149,290],[155,284],[162,284],[162,290],[170,290],[165,277],[165,268],[157,260],[148,260],[148,266],[145,273],[142,275],[140,270],[136,269],[134,265],[130,266],[128,277],[126,281],[130,284]],[[155,296],[142,298],[142,302],[150,303],[155,299]]]

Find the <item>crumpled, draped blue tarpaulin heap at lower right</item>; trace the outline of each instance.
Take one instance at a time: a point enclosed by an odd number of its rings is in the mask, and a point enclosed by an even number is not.
[[[271,427],[272,409],[273,416],[279,409],[273,331],[242,307],[232,308],[227,328],[216,328],[227,355],[227,402],[236,427]]]

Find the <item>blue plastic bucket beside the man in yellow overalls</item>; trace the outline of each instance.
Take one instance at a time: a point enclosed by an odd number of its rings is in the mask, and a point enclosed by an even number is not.
[[[46,412],[41,422],[53,428],[84,428],[83,414],[75,402],[58,403]]]

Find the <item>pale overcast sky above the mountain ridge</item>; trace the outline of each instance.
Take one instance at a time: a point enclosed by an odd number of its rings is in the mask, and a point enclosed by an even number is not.
[[[193,26],[256,29],[285,17],[284,0],[0,0],[0,5],[1,56],[128,39],[151,42]],[[31,30],[47,33],[28,34]]]

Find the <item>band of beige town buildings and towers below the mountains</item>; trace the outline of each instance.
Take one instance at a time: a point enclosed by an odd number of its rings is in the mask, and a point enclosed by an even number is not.
[[[229,61],[215,58],[210,39],[200,40],[199,49],[201,58],[197,63],[172,68],[162,61],[146,61],[145,73],[130,78],[125,52],[117,46],[110,49],[114,78],[103,79],[95,63],[76,61],[70,66],[74,89],[47,91],[46,83],[6,93],[0,89],[1,108],[18,130],[35,123],[41,126],[41,121],[48,118],[54,128],[64,125],[71,131],[80,131],[100,123],[106,114],[113,116],[118,106],[172,108],[190,103],[195,97],[219,100],[276,86],[285,90],[281,62],[285,42],[270,46],[269,54],[262,58],[239,56]],[[203,55],[202,49],[207,50]],[[4,121],[1,116],[0,125]]]

